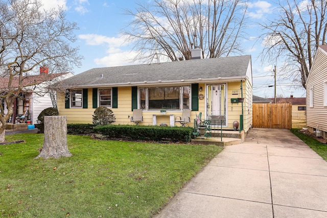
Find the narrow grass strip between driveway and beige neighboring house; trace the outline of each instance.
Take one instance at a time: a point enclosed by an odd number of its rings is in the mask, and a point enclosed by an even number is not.
[[[291,132],[304,141],[308,146],[315,151],[319,156],[321,156],[325,161],[327,161],[327,145],[317,141],[306,134],[303,134],[299,129],[291,129]]]

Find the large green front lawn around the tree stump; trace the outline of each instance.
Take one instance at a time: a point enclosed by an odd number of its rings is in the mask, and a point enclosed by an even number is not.
[[[0,146],[3,217],[151,217],[222,148],[68,135],[72,157],[34,159],[43,134]]]

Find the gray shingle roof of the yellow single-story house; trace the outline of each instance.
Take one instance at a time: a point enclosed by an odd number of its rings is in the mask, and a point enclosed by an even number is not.
[[[245,78],[251,56],[93,68],[64,82],[68,87],[101,87]],[[103,75],[103,78],[101,78]],[[250,78],[249,78],[250,79]],[[147,81],[147,82],[144,82]]]

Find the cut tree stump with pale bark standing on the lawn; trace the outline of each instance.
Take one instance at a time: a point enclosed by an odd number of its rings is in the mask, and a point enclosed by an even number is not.
[[[36,157],[70,157],[67,147],[66,116],[44,116],[44,142],[41,153]]]

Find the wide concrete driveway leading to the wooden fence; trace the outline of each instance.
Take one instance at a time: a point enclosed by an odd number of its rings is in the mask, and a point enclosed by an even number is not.
[[[289,130],[252,129],[154,217],[327,217],[327,162]]]

